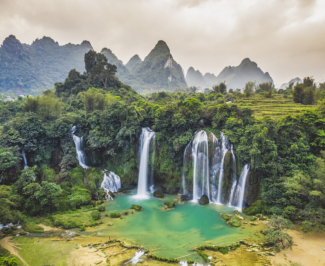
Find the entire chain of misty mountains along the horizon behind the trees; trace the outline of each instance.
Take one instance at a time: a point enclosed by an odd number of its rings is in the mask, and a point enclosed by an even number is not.
[[[89,41],[60,46],[50,37],[36,39],[31,45],[21,44],[14,36],[8,36],[0,47],[0,92],[12,90],[18,94],[36,94],[51,89],[54,83],[63,82],[71,69],[81,74],[85,71],[84,55],[93,50]],[[218,76],[190,67],[186,77],[182,67],[174,60],[167,44],[160,40],[141,60],[136,54],[126,64],[109,49],[103,48],[108,63],[117,67],[116,76],[137,92],[146,94],[161,90],[196,86],[211,88],[225,81],[227,89],[243,88],[248,81],[271,81],[255,62],[245,58],[238,66],[226,66]]]

